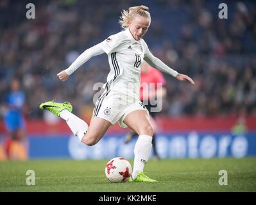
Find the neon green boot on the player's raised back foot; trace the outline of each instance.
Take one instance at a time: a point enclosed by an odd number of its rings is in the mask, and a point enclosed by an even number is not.
[[[70,112],[72,112],[72,109],[73,109],[72,105],[69,102],[58,103],[55,101],[43,102],[40,104],[39,108],[42,110],[48,110],[53,114],[55,114],[57,117],[60,117],[60,112],[62,110],[67,109]]]

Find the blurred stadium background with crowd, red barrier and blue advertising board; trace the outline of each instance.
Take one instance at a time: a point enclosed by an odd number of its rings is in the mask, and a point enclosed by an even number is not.
[[[27,3],[35,4],[35,19],[26,19]],[[228,5],[228,19],[219,19],[220,3]],[[89,122],[96,93],[92,87],[107,79],[107,56],[92,58],[65,83],[56,73],[85,49],[120,31],[120,11],[140,4],[151,12],[144,37],[149,49],[196,83],[191,86],[165,75],[167,97],[157,117],[160,157],[256,156],[254,1],[3,0],[0,97],[3,102],[11,79],[18,76],[26,93],[29,158],[133,158],[135,139],[123,143],[127,129],[112,126],[97,145],[87,147],[72,137],[65,122],[38,105],[50,99],[70,101],[74,113]],[[2,105],[0,143],[7,137]],[[239,126],[241,120],[246,124]]]

